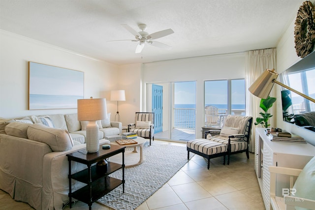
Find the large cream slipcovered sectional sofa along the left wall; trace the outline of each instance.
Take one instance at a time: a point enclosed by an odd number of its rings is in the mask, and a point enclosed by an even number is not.
[[[0,189],[36,210],[62,209],[69,200],[66,154],[86,148],[86,131],[81,129],[85,122],[76,116],[50,115],[54,128],[29,121],[36,122],[38,116],[0,120]],[[109,142],[103,139],[105,135],[122,133],[121,122],[110,124],[100,127],[100,144]],[[72,173],[84,168],[80,163],[71,164]],[[81,186],[72,180],[72,190]]]

